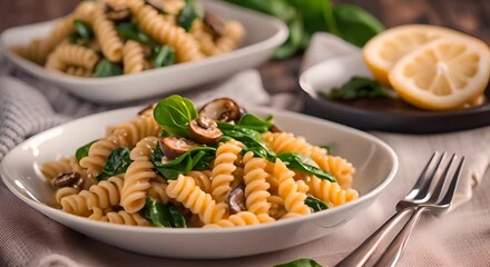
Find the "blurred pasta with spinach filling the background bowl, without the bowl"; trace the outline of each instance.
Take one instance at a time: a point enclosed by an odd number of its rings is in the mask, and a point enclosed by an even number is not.
[[[48,70],[78,77],[137,73],[237,49],[241,22],[194,0],[82,1],[43,39],[12,51]]]

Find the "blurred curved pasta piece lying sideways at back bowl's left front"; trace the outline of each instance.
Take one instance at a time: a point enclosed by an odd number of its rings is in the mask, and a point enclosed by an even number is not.
[[[65,43],[48,57],[46,68],[49,70],[65,71],[69,66],[78,66],[88,71],[92,71],[99,56],[86,47],[79,44]]]

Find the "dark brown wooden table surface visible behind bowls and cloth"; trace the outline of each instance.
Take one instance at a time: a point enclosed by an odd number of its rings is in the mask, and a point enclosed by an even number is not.
[[[274,1],[274,0],[272,0]],[[12,26],[61,17],[79,0],[0,1],[0,31]],[[453,28],[490,43],[490,0],[334,0],[354,3],[372,12],[386,27],[404,23],[431,23]],[[270,61],[258,69],[270,92],[297,89],[301,55]]]

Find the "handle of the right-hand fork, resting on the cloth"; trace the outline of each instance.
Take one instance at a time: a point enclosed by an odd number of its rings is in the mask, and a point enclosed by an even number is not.
[[[413,228],[425,209],[427,208],[423,206],[415,209],[415,212],[412,214],[405,226],[403,226],[390,246],[388,246],[386,250],[381,255],[380,259],[374,265],[375,267],[394,267],[396,265],[400,256],[402,255],[403,248],[409,241]]]

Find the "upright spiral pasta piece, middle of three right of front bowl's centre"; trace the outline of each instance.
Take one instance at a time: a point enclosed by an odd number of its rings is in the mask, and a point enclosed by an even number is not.
[[[246,152],[243,157],[244,167],[244,181],[245,181],[245,197],[247,210],[255,215],[263,215],[261,219],[266,221],[273,221],[274,219],[268,217],[268,209],[271,204],[267,202],[267,198],[271,194],[267,189],[271,187],[266,178],[270,176],[265,171],[267,160],[264,158],[254,158],[253,152]],[[265,221],[261,221],[265,222]]]

